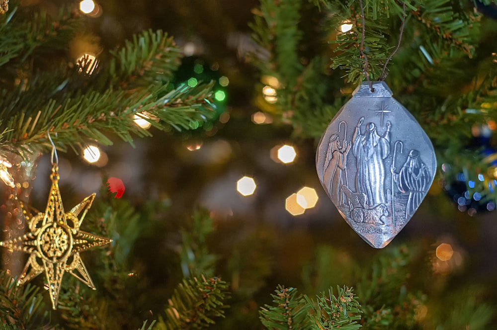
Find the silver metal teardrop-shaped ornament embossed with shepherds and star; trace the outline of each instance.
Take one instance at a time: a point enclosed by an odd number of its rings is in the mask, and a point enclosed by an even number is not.
[[[436,170],[433,145],[384,82],[362,83],[331,120],[318,176],[345,221],[374,248],[406,226]]]

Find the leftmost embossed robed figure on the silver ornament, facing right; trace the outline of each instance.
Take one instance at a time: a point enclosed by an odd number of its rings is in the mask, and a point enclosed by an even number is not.
[[[343,146],[341,146],[338,135],[331,135],[326,154],[324,182],[327,183],[331,200],[337,206],[344,203],[344,194],[339,189],[344,183],[343,171],[347,165],[347,154],[350,147],[350,144],[345,140],[343,140]]]

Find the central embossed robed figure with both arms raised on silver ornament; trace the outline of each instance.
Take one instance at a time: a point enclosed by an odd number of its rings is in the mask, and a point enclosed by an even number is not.
[[[367,204],[376,206],[385,204],[385,165],[383,160],[390,153],[390,127],[387,121],[387,130],[383,136],[376,131],[374,123],[366,125],[366,131],[361,133],[364,117],[359,119],[352,137],[353,154],[357,158],[357,173],[355,189],[366,194]]]

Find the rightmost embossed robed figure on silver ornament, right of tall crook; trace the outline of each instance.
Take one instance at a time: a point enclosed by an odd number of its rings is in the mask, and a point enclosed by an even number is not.
[[[406,218],[409,218],[421,203],[423,195],[431,183],[430,172],[421,161],[419,151],[411,150],[399,173],[396,173],[395,167],[393,167],[392,178],[401,192],[409,193],[406,208]]]

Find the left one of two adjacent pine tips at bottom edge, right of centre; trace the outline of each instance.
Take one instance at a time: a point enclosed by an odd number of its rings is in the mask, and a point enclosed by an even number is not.
[[[308,306],[297,289],[279,285],[275,292],[274,305],[265,304],[259,311],[262,325],[268,330],[311,329]]]

